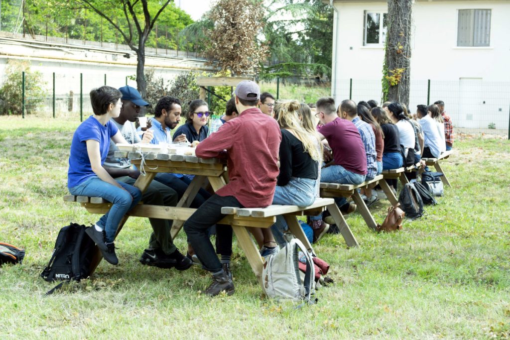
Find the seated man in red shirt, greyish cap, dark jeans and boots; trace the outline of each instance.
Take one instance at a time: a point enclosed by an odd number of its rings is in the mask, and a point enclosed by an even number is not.
[[[203,267],[213,274],[213,282],[205,290],[211,296],[234,293],[234,283],[225,272],[213,245],[208,228],[220,221],[223,206],[263,207],[272,204],[279,145],[282,134],[278,123],[257,108],[260,88],[252,81],[236,86],[236,119],[223,124],[218,132],[197,145],[195,154],[201,158],[225,156],[228,164],[228,184],[203,203],[184,224],[196,255]],[[216,224],[217,237],[219,228]]]

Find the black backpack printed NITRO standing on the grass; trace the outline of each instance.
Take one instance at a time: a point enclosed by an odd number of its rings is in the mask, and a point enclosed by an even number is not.
[[[85,233],[85,228],[84,225],[71,223],[60,229],[52,258],[42,271],[41,277],[48,282],[56,280],[63,282],[46,295],[59,289],[64,282],[80,281],[89,276],[95,243]]]

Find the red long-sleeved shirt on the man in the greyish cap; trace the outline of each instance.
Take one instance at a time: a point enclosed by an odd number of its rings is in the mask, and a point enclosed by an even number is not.
[[[276,120],[252,108],[200,142],[195,154],[213,158],[227,150],[229,182],[216,194],[234,196],[247,208],[265,207],[273,202],[281,141]]]

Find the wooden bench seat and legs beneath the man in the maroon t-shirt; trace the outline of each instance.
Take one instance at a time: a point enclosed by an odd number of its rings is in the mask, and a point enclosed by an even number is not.
[[[358,211],[360,212],[361,216],[365,220],[365,223],[367,224],[367,226],[372,230],[376,230],[377,223],[375,222],[374,218],[372,217],[372,214],[370,214],[370,211],[368,210],[368,207],[365,204],[365,201],[363,200],[363,198],[361,198],[361,195],[358,192],[358,189],[365,188],[369,184],[377,184],[378,183],[382,187],[382,190],[384,190],[386,195],[388,197],[393,196],[394,200],[396,201],[397,199],[395,198],[393,191],[391,191],[391,189],[388,186],[388,184],[386,183],[386,181],[382,180],[383,178],[384,177],[382,175],[376,175],[374,177],[374,179],[366,180],[359,185],[321,183],[320,184],[320,196],[321,197],[346,197],[346,198],[352,196],[352,199],[354,200],[354,203],[356,203],[356,205],[358,206]],[[392,204],[394,204],[394,203],[392,202]]]

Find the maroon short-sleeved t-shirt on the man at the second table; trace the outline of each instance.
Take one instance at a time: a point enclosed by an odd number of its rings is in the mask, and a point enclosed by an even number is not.
[[[365,146],[356,125],[350,120],[337,117],[334,121],[322,126],[319,133],[326,137],[333,150],[335,164],[341,165],[350,172],[367,174]]]

